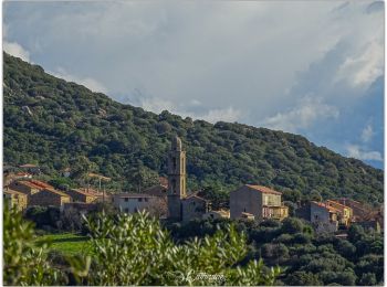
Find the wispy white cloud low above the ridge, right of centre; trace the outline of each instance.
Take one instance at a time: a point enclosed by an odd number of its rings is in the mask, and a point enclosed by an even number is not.
[[[339,111],[336,107],[323,104],[321,99],[305,97],[300,100],[296,107],[268,117],[262,124],[268,128],[296,132],[313,126],[317,120],[337,118],[338,115]]]

